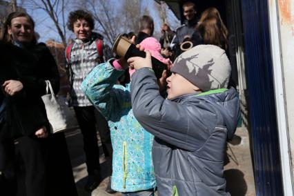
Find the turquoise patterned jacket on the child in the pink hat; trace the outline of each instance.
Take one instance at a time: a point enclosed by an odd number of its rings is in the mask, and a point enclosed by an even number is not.
[[[151,157],[154,137],[135,119],[130,104],[130,85],[116,84],[124,70],[113,68],[112,60],[96,66],[81,84],[81,89],[110,126],[111,188],[120,192],[155,188]]]

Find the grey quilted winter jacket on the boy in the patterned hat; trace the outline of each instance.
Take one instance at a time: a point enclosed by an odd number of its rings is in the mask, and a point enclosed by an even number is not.
[[[167,100],[149,68],[133,74],[130,88],[135,117],[155,135],[159,195],[230,195],[223,172],[226,140],[233,137],[239,116],[235,89]]]

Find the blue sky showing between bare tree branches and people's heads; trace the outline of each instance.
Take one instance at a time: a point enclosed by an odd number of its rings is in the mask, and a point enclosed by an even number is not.
[[[119,2],[119,1],[115,1],[115,2]],[[154,7],[155,3],[156,2],[154,0],[144,0],[143,6],[149,8],[148,10],[150,12],[150,16],[153,17],[153,19],[155,21],[155,35],[157,35],[157,38],[158,38],[159,32],[160,32],[160,27],[161,27],[161,22],[159,21],[159,13],[157,12],[156,8]],[[71,5],[69,5],[69,6],[71,6]],[[68,10],[74,10],[74,9],[75,8],[68,9]],[[48,14],[45,11],[43,11],[43,10],[30,10],[28,8],[26,9],[26,11],[35,20],[35,24],[36,24],[35,31],[38,32],[40,35],[39,41],[46,42],[49,39],[61,41],[61,39],[57,33],[57,30],[55,28],[54,23],[52,22],[52,20],[50,19],[50,17],[48,16]],[[170,24],[171,26],[175,26],[175,27],[179,26],[179,21],[177,20],[177,18],[173,14],[173,12],[168,12],[168,16],[169,16],[168,21],[171,21],[171,23],[173,23],[173,24]],[[66,13],[65,17],[67,20],[68,13]],[[69,36],[74,37],[74,35],[72,35],[72,32],[68,31],[67,33],[68,33],[67,37],[69,37]]]

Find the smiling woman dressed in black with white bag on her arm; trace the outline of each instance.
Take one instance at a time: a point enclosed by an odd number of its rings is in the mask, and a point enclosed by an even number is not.
[[[0,139],[17,141],[18,195],[77,195],[64,133],[50,134],[41,99],[45,80],[59,91],[57,64],[46,45],[37,43],[34,28],[25,12],[10,13],[4,23],[0,93],[6,97],[6,125]]]

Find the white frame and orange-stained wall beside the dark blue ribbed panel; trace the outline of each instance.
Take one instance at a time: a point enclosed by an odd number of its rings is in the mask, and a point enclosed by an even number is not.
[[[294,0],[268,0],[284,195],[293,195]]]

